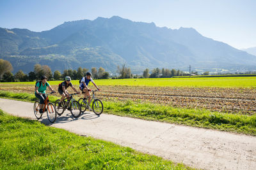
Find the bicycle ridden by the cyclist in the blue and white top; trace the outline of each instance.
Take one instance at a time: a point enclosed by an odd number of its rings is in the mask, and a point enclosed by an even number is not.
[[[85,99],[83,99],[83,97],[81,97],[78,102],[81,105],[81,111],[84,112],[86,111],[87,108],[89,108],[90,104],[92,103],[92,110],[96,115],[100,115],[103,112],[104,106],[102,104],[102,101],[100,101],[100,99],[97,99],[95,97],[95,92],[98,92],[99,90],[88,90],[88,91],[92,91],[92,100],[90,101],[90,103],[88,103],[88,97],[87,96]]]

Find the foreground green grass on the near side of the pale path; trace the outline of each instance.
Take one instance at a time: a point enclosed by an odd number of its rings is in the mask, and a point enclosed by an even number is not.
[[[0,169],[191,169],[0,110]]]

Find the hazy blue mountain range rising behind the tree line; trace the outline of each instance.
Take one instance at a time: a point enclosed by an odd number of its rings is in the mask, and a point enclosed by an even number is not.
[[[133,73],[145,68],[188,71],[254,69],[256,56],[202,36],[193,28],[170,29],[121,17],[64,22],[49,31],[0,28],[0,58],[14,72],[33,71],[36,63],[52,71],[104,67],[115,72],[126,64]]]

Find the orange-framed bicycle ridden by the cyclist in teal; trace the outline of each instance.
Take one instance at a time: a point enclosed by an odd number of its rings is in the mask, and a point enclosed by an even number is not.
[[[51,92],[50,94],[53,94],[53,93],[54,92]],[[45,111],[47,112],[48,120],[51,123],[54,123],[55,120],[56,120],[57,114],[56,114],[56,108],[55,108],[54,104],[49,102],[48,95],[50,95],[50,94],[46,94],[46,99],[44,100],[44,106],[43,106],[42,110],[43,110],[43,113]],[[39,110],[40,110],[39,104],[40,104],[39,100],[36,99],[36,101],[34,103],[34,113],[35,113],[35,116],[36,116],[37,120],[39,120],[43,115],[43,113],[39,113]]]

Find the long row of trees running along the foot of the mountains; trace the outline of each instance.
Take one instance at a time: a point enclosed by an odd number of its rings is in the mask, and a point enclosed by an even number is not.
[[[34,71],[29,72],[28,74],[23,73],[22,70],[19,70],[17,73],[13,74],[12,64],[8,60],[0,59],[0,80],[11,82],[11,81],[35,81],[40,80],[42,75],[47,76],[49,80],[63,80],[65,76],[70,76],[72,80],[77,80],[82,78],[89,69],[78,67],[78,69],[65,69],[63,73],[56,70],[52,73],[51,68],[47,65],[35,64]],[[94,79],[107,79],[109,78],[109,73],[105,71],[104,68],[92,67],[91,69],[92,77]],[[117,67],[117,73],[119,76],[114,76],[113,78],[171,78],[173,76],[188,76],[188,73],[184,73],[184,71],[180,71],[179,69],[153,69],[151,72],[149,69],[145,69],[142,75],[133,75],[131,73],[131,68],[126,67],[125,64]],[[197,72],[193,72],[193,74],[198,74]],[[204,75],[208,75],[209,71],[203,73]]]

